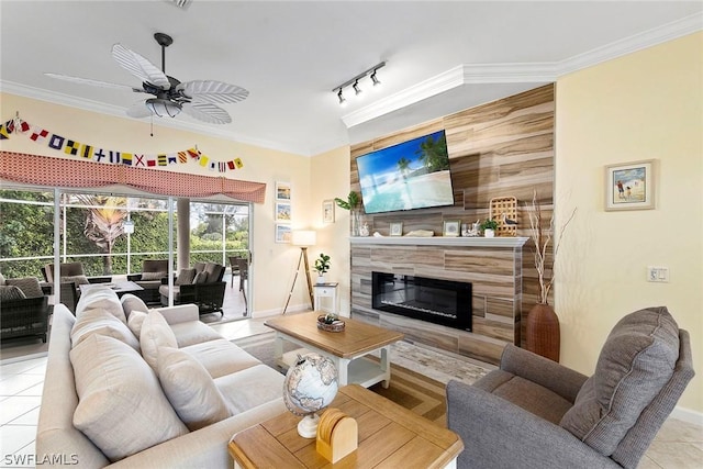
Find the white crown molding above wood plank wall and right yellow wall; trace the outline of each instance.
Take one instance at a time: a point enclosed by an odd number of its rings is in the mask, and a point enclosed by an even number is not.
[[[560,76],[701,30],[703,30],[703,13],[696,13],[561,62],[459,65],[345,114],[342,121],[349,129],[462,85],[556,81]]]

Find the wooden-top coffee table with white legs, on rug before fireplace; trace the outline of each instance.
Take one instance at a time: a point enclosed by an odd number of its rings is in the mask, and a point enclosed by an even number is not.
[[[346,323],[343,332],[321,331],[317,328],[320,314],[291,314],[265,322],[276,331],[275,353],[279,362],[290,365],[299,353],[288,353],[289,357],[283,358],[283,340],[288,340],[334,361],[341,387],[357,383],[368,388],[383,381],[383,387],[388,388],[391,379],[390,345],[402,339],[403,334],[348,317],[343,317]],[[365,357],[376,350],[380,350],[380,361]]]

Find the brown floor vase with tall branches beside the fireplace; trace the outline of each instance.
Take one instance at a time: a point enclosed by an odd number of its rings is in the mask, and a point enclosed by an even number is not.
[[[525,203],[527,206],[527,204]],[[549,291],[554,283],[555,273],[554,265],[550,275],[547,278],[547,269],[545,261],[547,259],[547,247],[551,243],[554,235],[554,212],[549,219],[549,227],[543,228],[542,226],[542,208],[537,202],[537,191],[533,192],[532,206],[528,206],[529,211],[529,226],[531,237],[534,243],[535,255],[535,268],[537,269],[537,278],[539,280],[539,294],[538,303],[529,310],[527,314],[526,331],[526,346],[529,351],[533,351],[543,357],[549,358],[554,361],[559,361],[559,349],[561,346],[561,333],[559,331],[559,316],[554,311],[554,308],[549,304]],[[573,220],[576,215],[576,209],[571,212],[571,215],[561,226],[559,231],[559,239],[554,246],[553,263],[556,261],[557,253],[559,252],[559,245],[563,237],[563,232]]]

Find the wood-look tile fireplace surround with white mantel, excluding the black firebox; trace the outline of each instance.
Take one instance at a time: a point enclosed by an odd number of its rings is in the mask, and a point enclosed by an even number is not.
[[[523,245],[527,237],[352,237],[352,316],[406,339],[498,364],[520,345]],[[371,272],[471,282],[473,331],[465,332],[371,308]]]

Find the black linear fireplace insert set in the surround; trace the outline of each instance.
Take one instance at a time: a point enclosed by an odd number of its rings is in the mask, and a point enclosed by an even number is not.
[[[372,308],[471,331],[471,283],[372,272]]]

